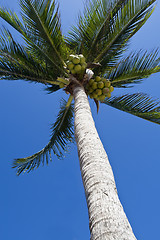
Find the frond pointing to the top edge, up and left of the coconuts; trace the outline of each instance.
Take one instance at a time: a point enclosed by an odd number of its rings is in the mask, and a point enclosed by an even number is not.
[[[57,65],[63,66],[63,38],[59,10],[54,0],[20,0],[22,18],[32,41],[43,48]]]

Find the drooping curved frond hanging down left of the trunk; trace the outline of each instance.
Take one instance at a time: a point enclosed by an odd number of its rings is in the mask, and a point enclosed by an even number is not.
[[[51,159],[51,151],[58,157],[63,157],[63,151],[67,149],[67,143],[73,142],[73,105],[71,104],[73,97],[70,97],[68,102],[63,100],[61,109],[56,122],[51,127],[52,137],[49,143],[39,152],[30,157],[15,159],[13,168],[16,168],[17,175],[22,172],[30,172],[38,168],[42,163]]]

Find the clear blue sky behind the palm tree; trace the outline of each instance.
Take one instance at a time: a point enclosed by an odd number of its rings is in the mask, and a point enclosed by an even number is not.
[[[66,33],[83,1],[59,2]],[[1,0],[0,5],[19,11],[17,0]],[[158,3],[132,39],[130,50],[160,47],[159,12]],[[159,89],[160,74],[156,74],[130,91],[160,98]],[[48,142],[62,96],[62,91],[47,95],[38,84],[0,82],[1,240],[89,240],[76,145],[64,160],[53,157],[49,166],[30,174],[17,177],[11,169],[14,158],[31,155]],[[160,126],[103,105],[97,115],[93,102],[91,107],[137,239],[159,239]]]

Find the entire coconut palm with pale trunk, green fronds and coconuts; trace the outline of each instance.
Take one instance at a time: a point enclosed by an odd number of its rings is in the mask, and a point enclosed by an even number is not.
[[[0,8],[1,18],[25,42],[19,44],[9,30],[2,29],[1,80],[38,82],[49,93],[63,88],[69,94],[68,101],[62,101],[49,143],[32,156],[16,159],[13,167],[20,175],[41,163],[48,164],[51,151],[62,158],[75,134],[91,240],[136,239],[119,201],[88,98],[94,100],[97,111],[99,103],[103,103],[160,124],[159,101],[143,93],[111,97],[114,88],[128,88],[160,71],[157,50],[128,55],[125,52],[130,38],[152,14],[154,3],[155,0],[91,0],[79,15],[77,27],[66,37],[62,35],[54,0],[20,0],[21,19],[11,10]]]

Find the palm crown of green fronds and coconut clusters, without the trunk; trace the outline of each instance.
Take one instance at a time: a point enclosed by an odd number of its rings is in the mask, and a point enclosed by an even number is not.
[[[0,8],[0,17],[20,33],[24,44],[1,29],[0,79],[25,80],[46,86],[49,93],[64,89],[68,102],[61,104],[49,143],[38,153],[14,161],[19,175],[58,157],[73,138],[72,88],[84,86],[99,102],[160,124],[160,102],[144,93],[113,96],[114,88],[128,88],[160,71],[158,50],[125,51],[131,37],[145,24],[155,0],[90,0],[67,36],[61,30],[55,0],[19,0],[21,16]],[[94,75],[92,76],[92,73]],[[113,88],[114,87],[114,88]]]

